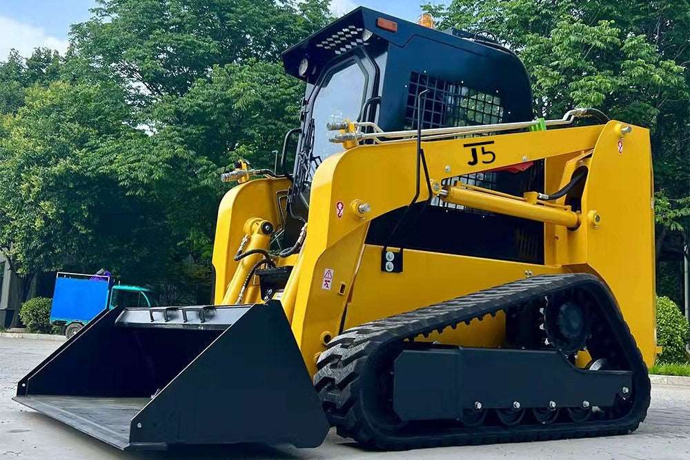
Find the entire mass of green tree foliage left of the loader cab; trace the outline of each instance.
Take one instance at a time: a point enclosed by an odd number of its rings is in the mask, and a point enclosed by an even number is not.
[[[106,266],[208,301],[218,173],[269,166],[297,126],[304,86],[279,54],[328,4],[98,0],[66,56],[0,62],[0,251],[24,287]]]

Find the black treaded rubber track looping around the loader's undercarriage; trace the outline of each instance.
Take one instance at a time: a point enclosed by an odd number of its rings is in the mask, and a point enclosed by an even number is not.
[[[382,353],[387,346],[420,334],[441,332],[462,322],[469,324],[486,314],[496,314],[501,310],[508,312],[530,301],[573,288],[588,290],[598,299],[600,314],[609,328],[607,334],[613,334],[613,340],[618,342],[629,363],[629,370],[633,371],[633,403],[622,418],[515,427],[482,425],[465,428],[459,424],[453,430],[446,426],[442,432],[430,433],[428,427],[423,432],[411,431],[410,428],[391,432],[385,423],[379,423],[377,417],[380,416],[366,407],[366,389],[371,388],[371,385],[366,385],[366,378],[378,377],[366,373],[374,372],[373,363],[384,356]],[[611,337],[606,340],[611,340]],[[331,426],[337,427],[338,434],[343,437],[386,450],[627,434],[644,420],[651,390],[647,367],[611,292],[600,279],[590,274],[532,277],[364,323],[344,331],[328,343],[327,350],[319,357],[317,368],[314,383]],[[369,397],[371,400],[371,395]]]

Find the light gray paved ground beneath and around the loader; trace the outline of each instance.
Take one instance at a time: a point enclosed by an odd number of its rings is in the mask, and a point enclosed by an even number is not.
[[[10,399],[17,381],[60,345],[0,337],[0,460],[2,459],[690,459],[690,388],[654,386],[647,420],[628,436],[366,452],[331,432],[317,449],[239,446],[221,452],[126,454]]]

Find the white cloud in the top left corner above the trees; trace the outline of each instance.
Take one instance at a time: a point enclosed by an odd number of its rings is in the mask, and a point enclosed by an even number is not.
[[[68,41],[50,37],[41,28],[0,16],[0,61],[7,59],[12,48],[19,51],[23,57],[29,57],[34,48],[39,46],[52,48],[64,54]]]

